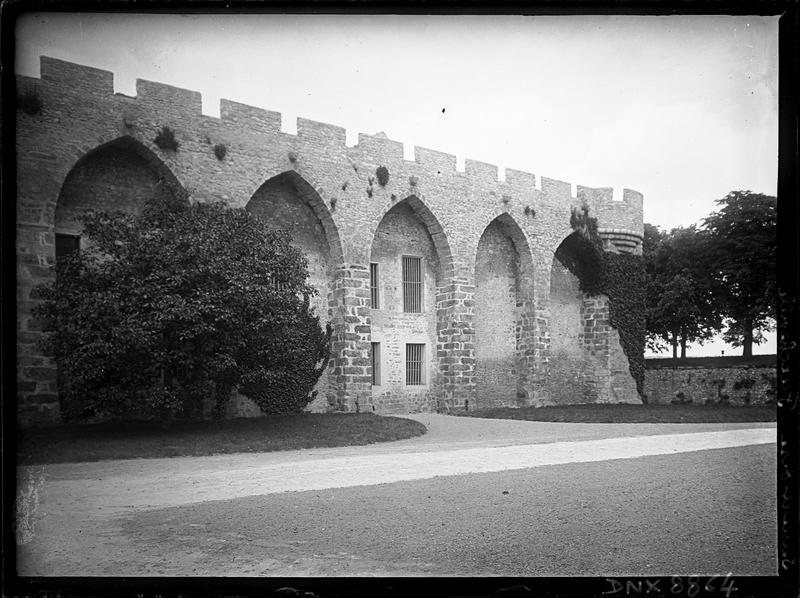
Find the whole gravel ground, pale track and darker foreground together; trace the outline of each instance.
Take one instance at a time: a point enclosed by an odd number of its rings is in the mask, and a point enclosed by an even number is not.
[[[680,539],[689,529],[680,526],[710,508],[716,519],[732,519],[700,526],[704,533],[734,538],[746,523],[749,537],[764,547],[753,548],[761,555],[757,562],[742,558],[752,573],[769,574],[763,569],[774,553],[774,539],[768,544],[775,527],[767,521],[775,511],[769,508],[774,424],[415,418],[429,426],[428,434],[381,445],[20,468],[18,571],[449,575],[467,567],[474,574],[562,575],[576,574],[577,566],[579,574],[595,574],[588,556],[562,564],[540,558],[542,543],[583,546],[580,530],[588,526],[591,546],[622,540],[606,557],[622,556],[606,565],[638,567],[641,574],[651,569],[637,560],[647,551],[625,534],[631,522],[664,531],[672,521],[678,527],[671,535]],[[736,484],[728,488],[731,479]],[[496,492],[501,486],[514,488],[513,497],[511,490]],[[717,503],[708,503],[709,486],[717,488]],[[660,494],[651,495],[656,489]],[[665,503],[665,493],[674,498]],[[735,506],[733,515],[726,504]],[[625,505],[647,508],[627,512]],[[618,524],[606,517],[615,509]],[[535,533],[528,529],[532,521],[542,522]],[[563,525],[554,527],[556,521]],[[511,536],[521,542],[516,558],[496,556]],[[464,537],[471,538],[470,554],[495,556],[466,558],[454,548]],[[450,549],[432,553],[431,546]],[[537,573],[522,572],[532,570]]]

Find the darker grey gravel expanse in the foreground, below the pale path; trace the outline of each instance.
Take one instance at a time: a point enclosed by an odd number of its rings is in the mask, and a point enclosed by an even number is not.
[[[774,575],[774,452],[749,446],[142,511],[117,522],[130,560],[91,566],[209,576]],[[70,564],[86,566],[74,557],[61,566]]]

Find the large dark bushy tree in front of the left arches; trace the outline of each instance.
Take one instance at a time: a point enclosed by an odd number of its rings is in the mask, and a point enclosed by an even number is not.
[[[302,410],[329,357],[315,290],[288,234],[217,203],[89,212],[37,314],[66,418],[220,415],[234,387],[264,411]],[[286,381],[289,380],[287,383]],[[280,384],[281,396],[265,393]]]

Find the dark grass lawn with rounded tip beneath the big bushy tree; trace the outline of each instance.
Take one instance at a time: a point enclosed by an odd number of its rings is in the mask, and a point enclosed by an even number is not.
[[[427,432],[421,423],[371,413],[299,413],[218,422],[67,425],[17,431],[17,463],[257,453],[353,446]]]

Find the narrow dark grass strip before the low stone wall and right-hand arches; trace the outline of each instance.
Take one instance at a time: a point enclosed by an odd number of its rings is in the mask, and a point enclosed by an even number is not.
[[[555,405],[551,407],[495,407],[459,411],[463,417],[525,419],[538,422],[587,424],[704,424],[723,422],[774,422],[774,405],[732,407],[724,405]]]

